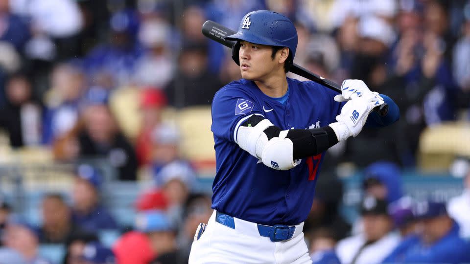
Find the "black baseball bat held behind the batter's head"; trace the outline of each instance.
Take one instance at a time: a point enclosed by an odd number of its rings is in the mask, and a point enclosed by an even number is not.
[[[232,29],[230,28],[227,28],[217,22],[213,22],[211,20],[208,20],[206,22],[204,22],[204,24],[202,25],[202,34],[206,37],[208,37],[209,39],[213,40],[213,41],[216,41],[226,47],[229,47],[229,48],[232,48],[235,44],[235,41],[230,41],[230,40],[226,40],[224,39],[226,36],[230,36],[230,35],[233,35],[235,34],[236,32],[233,31]],[[295,73],[297,75],[300,75],[308,80],[312,80],[312,81],[315,81],[325,87],[328,87],[334,91],[337,91],[338,93],[341,93],[341,86],[328,80],[328,79],[325,79],[307,69],[305,69],[304,67],[302,66],[299,66],[297,64],[292,64],[292,66],[290,67],[290,72],[292,73]],[[388,110],[388,108],[386,108],[387,104],[383,104],[377,108],[378,109],[378,112],[381,114],[381,115],[384,115],[386,114],[386,110]],[[377,108],[375,108],[374,110],[377,110]]]

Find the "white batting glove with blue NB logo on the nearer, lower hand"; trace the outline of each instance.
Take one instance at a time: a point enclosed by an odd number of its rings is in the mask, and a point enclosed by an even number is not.
[[[379,96],[360,96],[348,101],[341,109],[341,113],[336,116],[338,122],[329,124],[338,141],[357,136],[371,111],[383,103]]]

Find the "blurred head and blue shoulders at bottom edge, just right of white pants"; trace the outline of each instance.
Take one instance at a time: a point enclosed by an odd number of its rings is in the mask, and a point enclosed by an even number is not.
[[[309,252],[313,264],[341,264],[334,252],[337,240],[333,230],[318,228],[308,237],[310,238]]]

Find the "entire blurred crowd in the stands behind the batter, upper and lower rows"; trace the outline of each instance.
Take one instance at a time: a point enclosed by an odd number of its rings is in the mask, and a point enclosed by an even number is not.
[[[461,254],[470,176],[447,206],[406,197],[400,182],[425,128],[470,119],[469,0],[0,0],[0,128],[10,147],[41,146],[56,162],[101,158],[118,180],[151,182],[133,201],[132,226],[100,202],[105,178],[89,164],[75,166],[71,193],[42,198],[40,226],[0,202],[0,264],[49,263],[43,244],[63,245],[64,264],[186,263],[211,198],[193,192],[198,172],[164,114],[208,107],[241,78],[201,26],[235,30],[257,9],[295,23],[295,63],[337,83],[364,80],[400,107],[393,126],[329,151],[305,222],[315,263],[470,262]],[[139,114],[119,122],[129,103]],[[361,217],[350,223],[339,213],[342,183],[328,176],[339,161],[377,160],[391,163],[368,167]]]

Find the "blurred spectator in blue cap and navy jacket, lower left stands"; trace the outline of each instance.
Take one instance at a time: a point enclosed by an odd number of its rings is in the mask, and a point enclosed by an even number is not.
[[[113,217],[100,205],[102,181],[102,176],[92,166],[82,164],[77,167],[72,191],[72,221],[89,232],[118,228]]]

